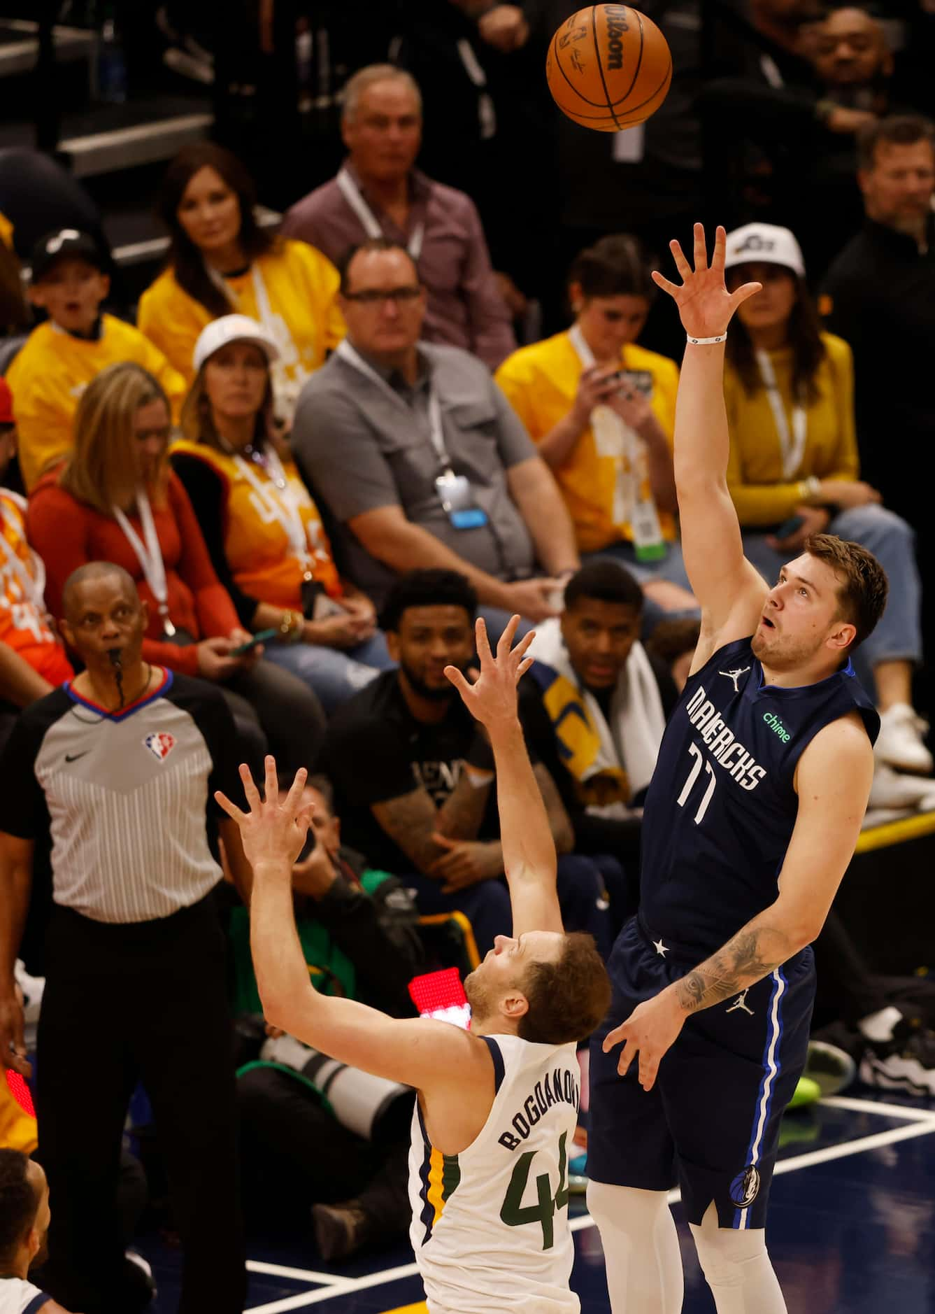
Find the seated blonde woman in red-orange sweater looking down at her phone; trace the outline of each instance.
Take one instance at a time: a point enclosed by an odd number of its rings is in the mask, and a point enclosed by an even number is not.
[[[310,767],[322,708],[302,681],[257,660],[257,649],[238,656],[251,636],[169,466],[169,428],[165,393],[142,365],[108,365],[81,394],[74,451],[39,480],[26,511],[29,541],[46,564],[49,610],[62,615],[62,589],[77,566],[123,566],[148,606],[144,661],[218,681],[253,758],[268,740],[295,769]]]

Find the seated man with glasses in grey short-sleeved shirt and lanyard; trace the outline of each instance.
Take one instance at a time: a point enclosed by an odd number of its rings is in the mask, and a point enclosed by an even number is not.
[[[499,633],[511,612],[555,614],[554,578],[578,566],[571,520],[545,463],[487,371],[419,342],[425,289],[385,238],[341,265],[348,338],[310,378],[293,451],[337,522],[339,560],[377,606],[395,576],[458,570]]]

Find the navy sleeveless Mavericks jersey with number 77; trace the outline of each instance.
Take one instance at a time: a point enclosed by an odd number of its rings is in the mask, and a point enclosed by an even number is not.
[[[646,795],[640,911],[663,940],[712,953],[775,901],[798,798],[796,763],[822,727],[880,717],[848,660],[817,685],[766,685],[738,639],[693,674]]]

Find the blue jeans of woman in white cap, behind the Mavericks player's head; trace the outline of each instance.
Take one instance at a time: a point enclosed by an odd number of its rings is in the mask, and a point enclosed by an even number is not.
[[[889,579],[886,610],[854,654],[860,682],[872,692],[872,671],[879,662],[922,660],[922,581],[915,565],[915,533],[901,515],[872,503],[839,511],[827,532],[872,552]],[[743,531],[743,551],[771,587],[789,560],[788,552],[776,552],[766,535],[754,530]]]

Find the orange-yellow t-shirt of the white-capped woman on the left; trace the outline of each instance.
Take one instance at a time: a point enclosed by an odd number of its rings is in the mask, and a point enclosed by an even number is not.
[[[221,476],[225,556],[238,589],[273,607],[301,611],[305,566],[294,555],[285,527],[271,514],[271,507],[276,507],[278,499],[269,474],[256,463],[250,466],[253,477],[268,489],[269,501],[264,505],[264,498],[243,474],[236,457],[207,447],[206,443],[190,443],[186,439],[173,443],[172,451],[198,457]],[[311,574],[326,593],[339,598],[341,585],[318,507],[292,461],[282,461],[282,473],[305,524],[313,558]]]

